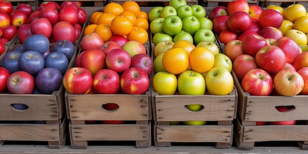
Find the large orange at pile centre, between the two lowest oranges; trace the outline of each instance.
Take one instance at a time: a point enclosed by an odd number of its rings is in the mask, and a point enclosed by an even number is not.
[[[117,35],[127,35],[133,25],[129,18],[117,16],[111,21],[111,30]]]

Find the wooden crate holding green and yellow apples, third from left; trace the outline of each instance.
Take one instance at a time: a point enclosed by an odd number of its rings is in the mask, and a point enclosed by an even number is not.
[[[233,119],[236,116],[237,91],[229,95],[159,95],[152,90],[155,146],[172,142],[212,142],[216,148],[229,148],[233,141]],[[203,110],[193,112],[185,106],[200,104]],[[177,121],[207,121],[206,125],[169,125]],[[212,124],[211,124],[212,123]]]

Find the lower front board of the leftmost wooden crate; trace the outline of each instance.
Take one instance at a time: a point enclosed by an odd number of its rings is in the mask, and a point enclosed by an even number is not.
[[[59,141],[59,124],[0,123],[0,140]]]

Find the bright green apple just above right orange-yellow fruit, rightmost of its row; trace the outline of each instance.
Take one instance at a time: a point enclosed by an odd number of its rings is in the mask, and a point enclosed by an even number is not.
[[[215,42],[215,35],[212,30],[209,29],[199,29],[195,32],[193,40],[195,44],[198,44],[202,41],[211,41]]]

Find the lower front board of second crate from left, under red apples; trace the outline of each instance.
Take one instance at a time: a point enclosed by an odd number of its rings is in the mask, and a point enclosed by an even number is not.
[[[151,138],[149,124],[71,124],[73,141],[142,141]]]

